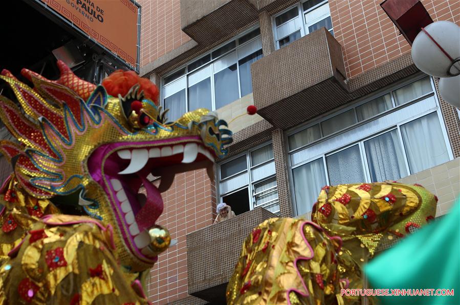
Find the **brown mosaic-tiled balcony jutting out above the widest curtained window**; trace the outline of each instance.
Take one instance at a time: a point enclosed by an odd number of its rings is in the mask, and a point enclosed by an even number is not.
[[[257,113],[277,128],[349,101],[341,46],[325,28],[256,61],[251,73]]]

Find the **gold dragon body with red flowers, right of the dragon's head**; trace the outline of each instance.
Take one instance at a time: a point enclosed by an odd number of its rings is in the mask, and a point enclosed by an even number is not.
[[[229,304],[358,304],[340,289],[363,288],[362,265],[381,243],[434,218],[421,185],[323,187],[312,219],[270,219],[246,238],[227,286]],[[373,302],[373,299],[370,299]]]

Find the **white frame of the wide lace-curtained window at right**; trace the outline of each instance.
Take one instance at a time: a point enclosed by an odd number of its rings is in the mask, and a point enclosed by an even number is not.
[[[294,193],[293,169],[301,167],[301,166],[303,166],[306,163],[309,163],[311,161],[315,161],[315,160],[318,160],[318,159],[322,158],[323,165],[324,165],[324,174],[325,174],[326,182],[327,182],[327,185],[330,185],[329,174],[328,174],[328,171],[327,171],[326,157],[330,156],[330,155],[332,155],[334,153],[337,153],[339,151],[342,151],[344,149],[347,149],[347,148],[350,148],[352,146],[358,145],[359,149],[360,149],[360,155],[361,155],[361,159],[362,159],[363,173],[364,173],[364,179],[365,179],[365,181],[362,181],[362,182],[370,182],[371,177],[370,177],[369,167],[368,167],[368,163],[367,163],[367,156],[366,156],[366,151],[365,151],[365,148],[364,148],[364,142],[366,142],[367,140],[369,140],[371,138],[375,138],[375,137],[377,137],[379,135],[382,135],[382,134],[384,134],[386,132],[389,132],[391,130],[398,130],[398,136],[399,136],[399,140],[400,140],[399,143],[401,144],[401,148],[402,148],[402,151],[403,151],[404,162],[405,162],[407,174],[412,175],[413,173],[411,173],[410,168],[409,168],[409,163],[408,163],[408,159],[407,159],[407,156],[406,156],[406,149],[404,147],[404,141],[402,139],[401,129],[400,128],[401,128],[401,125],[404,125],[404,124],[407,124],[409,122],[418,120],[418,119],[422,118],[422,116],[425,116],[425,115],[428,115],[428,114],[431,114],[431,113],[434,113],[434,112],[437,113],[437,118],[438,118],[440,126],[441,126],[441,130],[442,130],[442,133],[443,133],[444,142],[446,144],[449,160],[453,159],[452,147],[451,147],[450,142],[449,142],[447,129],[446,129],[444,119],[443,119],[443,115],[442,115],[442,112],[441,112],[439,98],[437,97],[437,94],[436,94],[436,91],[435,91],[435,85],[434,85],[434,81],[433,81],[432,77],[429,77],[430,84],[431,84],[431,89],[432,89],[431,92],[425,94],[424,96],[418,97],[418,98],[416,98],[416,99],[414,99],[412,101],[404,103],[404,104],[402,104],[400,106],[396,106],[396,104],[395,104],[395,100],[393,98],[393,91],[396,91],[397,89],[402,88],[405,85],[408,85],[408,84],[413,83],[415,81],[421,80],[421,79],[423,79],[425,77],[427,77],[427,76],[423,75],[423,74],[422,75],[419,74],[419,75],[414,76],[414,77],[412,77],[410,79],[407,79],[407,80],[405,80],[403,82],[400,82],[396,86],[391,86],[390,88],[387,87],[387,88],[381,89],[381,90],[378,91],[378,93],[376,93],[373,96],[361,99],[360,101],[355,102],[353,105],[343,107],[339,111],[336,110],[336,111],[330,112],[330,113],[322,116],[322,118],[320,118],[320,119],[317,118],[314,121],[311,121],[311,122],[308,122],[306,124],[303,124],[301,127],[296,127],[294,129],[291,129],[285,134],[285,142],[286,142],[287,148],[288,148],[287,149],[287,155],[288,155],[287,159],[288,159],[288,167],[289,167],[288,177],[289,177],[289,180],[290,180],[290,187],[291,187],[292,208],[293,208],[293,211],[296,213],[296,215],[298,215],[298,213],[297,213],[298,209],[297,209],[297,203],[296,203],[296,198],[295,198],[295,193]],[[363,104],[365,104],[365,103],[367,103],[369,101],[375,100],[375,99],[377,99],[377,98],[379,98],[381,96],[384,96],[387,93],[390,93],[393,108],[388,109],[388,110],[386,110],[384,112],[381,112],[378,115],[375,115],[372,118],[366,119],[364,121],[361,121],[361,122],[357,121],[358,123],[356,123],[354,125],[348,126],[348,127],[344,128],[344,129],[339,130],[337,132],[334,132],[334,133],[332,133],[332,134],[330,134],[328,136],[321,137],[321,138],[313,141],[312,143],[309,143],[309,144],[303,145],[301,147],[298,147],[296,149],[290,150],[289,142],[288,142],[288,137],[290,135],[293,135],[293,134],[295,134],[295,133],[297,133],[299,131],[302,131],[302,130],[304,130],[306,128],[309,128],[309,127],[311,127],[313,125],[320,124],[321,122],[326,121],[326,120],[328,120],[330,118],[333,118],[334,116],[339,115],[339,114],[341,114],[343,112],[346,112],[346,111],[348,111],[350,109],[356,109],[356,107],[361,106],[361,105],[363,105]],[[390,124],[390,125],[382,128],[382,129],[380,129],[379,131],[373,132],[370,135],[361,136],[361,137],[359,137],[359,135],[356,135],[357,138],[354,138],[354,139],[350,140],[345,145],[342,145],[340,147],[331,146],[330,148],[325,148],[325,150],[323,152],[321,152],[319,154],[316,154],[315,156],[311,156],[309,158],[306,158],[303,161],[299,161],[299,162],[296,162],[295,164],[293,164],[292,155],[295,154],[296,152],[300,152],[302,150],[308,149],[309,147],[313,147],[313,146],[316,146],[318,144],[321,144],[322,142],[325,142],[328,139],[331,139],[331,138],[334,138],[336,136],[339,136],[340,134],[345,133],[345,132],[347,132],[349,130],[353,130],[353,129],[357,128],[357,127],[360,127],[361,125],[364,125],[364,124],[369,123],[371,121],[375,121],[375,120],[377,120],[379,118],[382,118],[382,117],[384,117],[384,116],[386,116],[388,114],[391,114],[392,112],[395,112],[395,111],[398,111],[400,109],[409,107],[409,106],[411,106],[413,104],[416,104],[418,102],[425,101],[425,100],[427,100],[428,98],[431,98],[431,97],[433,97],[433,99],[434,99],[435,107],[432,107],[432,108],[427,109],[427,110],[425,110],[423,112],[420,112],[417,115],[408,116],[408,118],[406,118],[405,120],[399,121],[399,122],[397,122],[395,124]],[[355,110],[355,115],[356,115],[356,110]],[[320,131],[321,131],[321,135],[322,135],[322,130],[320,129]],[[404,178],[404,177],[401,177],[401,178]]]

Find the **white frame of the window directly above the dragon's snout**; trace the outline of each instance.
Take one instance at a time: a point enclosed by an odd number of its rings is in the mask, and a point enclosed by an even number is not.
[[[163,108],[165,108],[165,102],[164,100],[170,96],[172,96],[174,93],[177,93],[183,89],[185,89],[185,112],[189,112],[189,97],[188,97],[188,88],[190,87],[189,85],[189,77],[191,75],[194,75],[195,73],[198,73],[200,71],[203,71],[205,69],[209,69],[209,72],[208,74],[206,75],[206,77],[204,77],[202,80],[206,79],[206,78],[210,78],[211,80],[211,107],[212,109],[210,110],[216,110],[216,105],[215,105],[215,87],[214,87],[214,75],[217,74],[218,72],[222,71],[222,69],[220,69],[219,71],[214,71],[214,64],[219,62],[220,60],[222,60],[223,58],[227,57],[227,56],[230,56],[231,54],[235,54],[235,57],[236,57],[236,67],[237,67],[237,82],[238,82],[238,99],[242,98],[242,95],[241,95],[241,84],[240,84],[240,75],[239,75],[239,60],[245,58],[246,56],[249,56],[257,51],[261,51],[262,50],[262,42],[261,42],[261,35],[259,34],[258,36],[256,37],[253,37],[251,39],[249,39],[248,41],[245,41],[244,43],[242,44],[238,44],[238,39],[245,36],[246,34],[249,34],[250,32],[254,31],[254,30],[257,30],[259,27],[258,24],[252,26],[250,29],[242,32],[241,34],[238,34],[237,36],[235,36],[234,38],[232,38],[231,40],[228,40],[226,41],[225,43],[222,43],[221,45],[219,45],[218,47],[212,49],[211,51],[209,52],[206,52],[205,54],[201,54],[200,56],[197,56],[196,58],[194,58],[193,60],[187,62],[186,64],[182,65],[181,67],[177,68],[177,69],[174,69],[172,72],[164,75],[162,78],[161,78],[161,81],[160,81],[160,86],[161,86],[161,90],[160,90],[160,100],[161,100],[161,106]],[[253,51],[252,53],[250,54],[245,54],[245,55],[242,55],[242,57],[240,58],[240,54],[238,53],[241,52],[245,46],[251,44],[251,43],[256,43],[256,40],[259,40],[259,44],[260,44],[260,48],[257,48],[257,50]],[[216,58],[212,58],[210,61],[202,64],[201,66],[198,66],[196,68],[194,68],[193,70],[191,71],[188,71],[188,65],[193,63],[194,61],[196,60],[199,60],[200,58],[204,57],[204,56],[207,56],[207,55],[211,55],[214,51],[222,48],[223,46],[225,46],[226,44],[228,43],[231,43],[232,41],[235,41],[235,48],[219,55],[218,57]],[[171,76],[173,75],[174,73],[178,72],[178,71],[181,71],[182,69],[185,69],[185,74],[178,77],[177,79],[174,79],[173,81],[169,82],[168,84],[164,84],[164,79],[167,78],[168,76]],[[200,81],[202,81],[200,80]],[[200,81],[196,82],[196,83],[199,83]],[[196,84],[194,83],[194,84]],[[176,84],[178,86],[177,89],[173,89],[173,93],[170,93],[168,95],[165,95],[165,91],[167,90],[167,88],[169,87],[173,87],[173,85]],[[165,88],[166,86],[166,88]],[[228,104],[227,104],[228,105]]]

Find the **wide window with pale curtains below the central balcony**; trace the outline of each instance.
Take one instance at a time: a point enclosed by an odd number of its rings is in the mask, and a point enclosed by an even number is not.
[[[398,180],[453,158],[429,77],[288,133],[297,215],[324,185]]]

